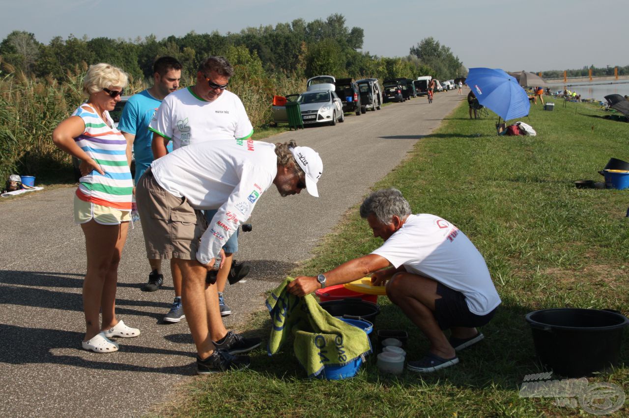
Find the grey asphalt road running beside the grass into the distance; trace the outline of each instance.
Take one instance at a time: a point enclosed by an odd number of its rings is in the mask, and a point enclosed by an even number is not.
[[[431,133],[465,96],[455,90],[347,115],[337,126],[286,132],[323,159],[320,198],[282,198],[269,190],[243,233],[238,260],[250,260],[246,281],[228,286],[238,328],[264,309],[264,292],[277,286],[318,241],[360,203],[370,187],[402,161],[416,141]],[[81,348],[84,333],[81,286],[86,255],[81,228],[72,222],[74,188],[28,193],[0,201],[0,416],[59,417],[142,415],[175,396],[195,372],[194,345],[186,321],[163,324],[172,282],[146,293],[142,227],[130,231],[119,269],[117,314],[140,328],[138,338],[118,339],[120,351],[96,354]]]

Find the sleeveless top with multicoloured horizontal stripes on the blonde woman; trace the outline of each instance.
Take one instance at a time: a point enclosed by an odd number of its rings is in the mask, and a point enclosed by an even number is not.
[[[85,131],[74,141],[105,173],[92,170],[87,176],[82,176],[76,191],[77,197],[96,205],[131,210],[133,180],[126,159],[125,137],[113,127],[109,112],[105,112],[108,121],[105,123],[89,104],[79,106],[72,116],[81,117],[85,123]]]

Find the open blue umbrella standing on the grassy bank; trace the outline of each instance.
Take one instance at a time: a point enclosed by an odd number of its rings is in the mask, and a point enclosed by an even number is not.
[[[505,121],[528,115],[531,104],[518,80],[499,68],[470,68],[465,83],[476,99]]]

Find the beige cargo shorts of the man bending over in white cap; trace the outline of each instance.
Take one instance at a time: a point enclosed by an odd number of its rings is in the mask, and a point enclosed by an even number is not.
[[[196,260],[201,235],[208,223],[185,197],[171,195],[160,186],[150,168],[135,190],[138,213],[149,259]]]

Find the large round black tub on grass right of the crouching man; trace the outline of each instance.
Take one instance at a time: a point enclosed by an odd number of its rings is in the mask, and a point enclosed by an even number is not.
[[[629,319],[599,309],[542,309],[526,314],[540,361],[565,377],[582,377],[618,365]]]

